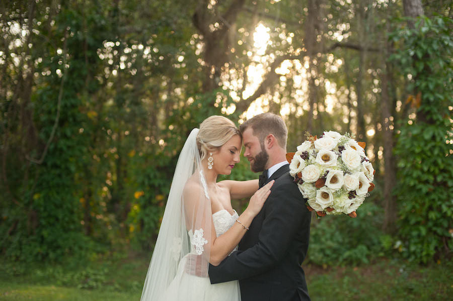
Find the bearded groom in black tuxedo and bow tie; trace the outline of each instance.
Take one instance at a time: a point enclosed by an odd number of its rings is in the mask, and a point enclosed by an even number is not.
[[[209,265],[211,283],[239,279],[242,301],[310,300],[304,270],[311,214],[289,175],[287,129],[281,117],[264,113],[240,126],[244,156],[260,187],[274,179],[271,194],[239,243],[218,266]]]

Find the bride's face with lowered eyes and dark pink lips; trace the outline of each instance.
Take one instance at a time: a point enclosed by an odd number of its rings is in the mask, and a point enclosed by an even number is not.
[[[234,135],[212,155],[212,158],[214,159],[213,168],[217,174],[231,173],[235,164],[240,160],[241,143],[241,137],[239,135]]]

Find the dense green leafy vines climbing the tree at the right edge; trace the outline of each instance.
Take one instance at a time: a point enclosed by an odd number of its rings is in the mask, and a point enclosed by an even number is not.
[[[412,107],[395,149],[399,235],[403,254],[417,262],[453,250],[452,26],[447,18],[422,17],[391,36],[401,49],[391,60],[410,79]]]

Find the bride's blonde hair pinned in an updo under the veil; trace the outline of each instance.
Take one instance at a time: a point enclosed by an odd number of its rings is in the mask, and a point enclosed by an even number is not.
[[[217,115],[206,118],[200,124],[197,135],[197,146],[201,160],[210,151],[221,147],[234,135],[239,135],[242,138],[241,132],[230,119]]]

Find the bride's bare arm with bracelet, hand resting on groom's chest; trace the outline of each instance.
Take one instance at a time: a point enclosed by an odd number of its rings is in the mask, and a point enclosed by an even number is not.
[[[264,187],[256,191],[250,198],[249,206],[237,219],[240,223],[235,222],[234,225],[225,233],[216,237],[214,225],[212,222],[212,215],[209,221],[202,221],[204,227],[201,227],[199,222],[198,227],[208,229],[210,227],[210,237],[204,237],[209,244],[209,263],[212,265],[218,265],[226,256],[228,256],[233,249],[239,244],[242,237],[246,233],[247,228],[252,223],[252,220],[260,212],[266,198],[270,194],[270,187],[274,181],[269,182]],[[192,187],[193,188],[193,187]],[[199,209],[199,200],[195,199],[199,194],[196,191],[184,189],[184,200],[185,200],[185,212],[189,216],[187,218],[194,220],[197,216],[197,210]],[[209,202],[208,199],[204,199],[204,202]],[[207,224],[209,223],[209,224]],[[195,222],[192,222],[195,224]],[[246,228],[247,227],[247,228]]]

